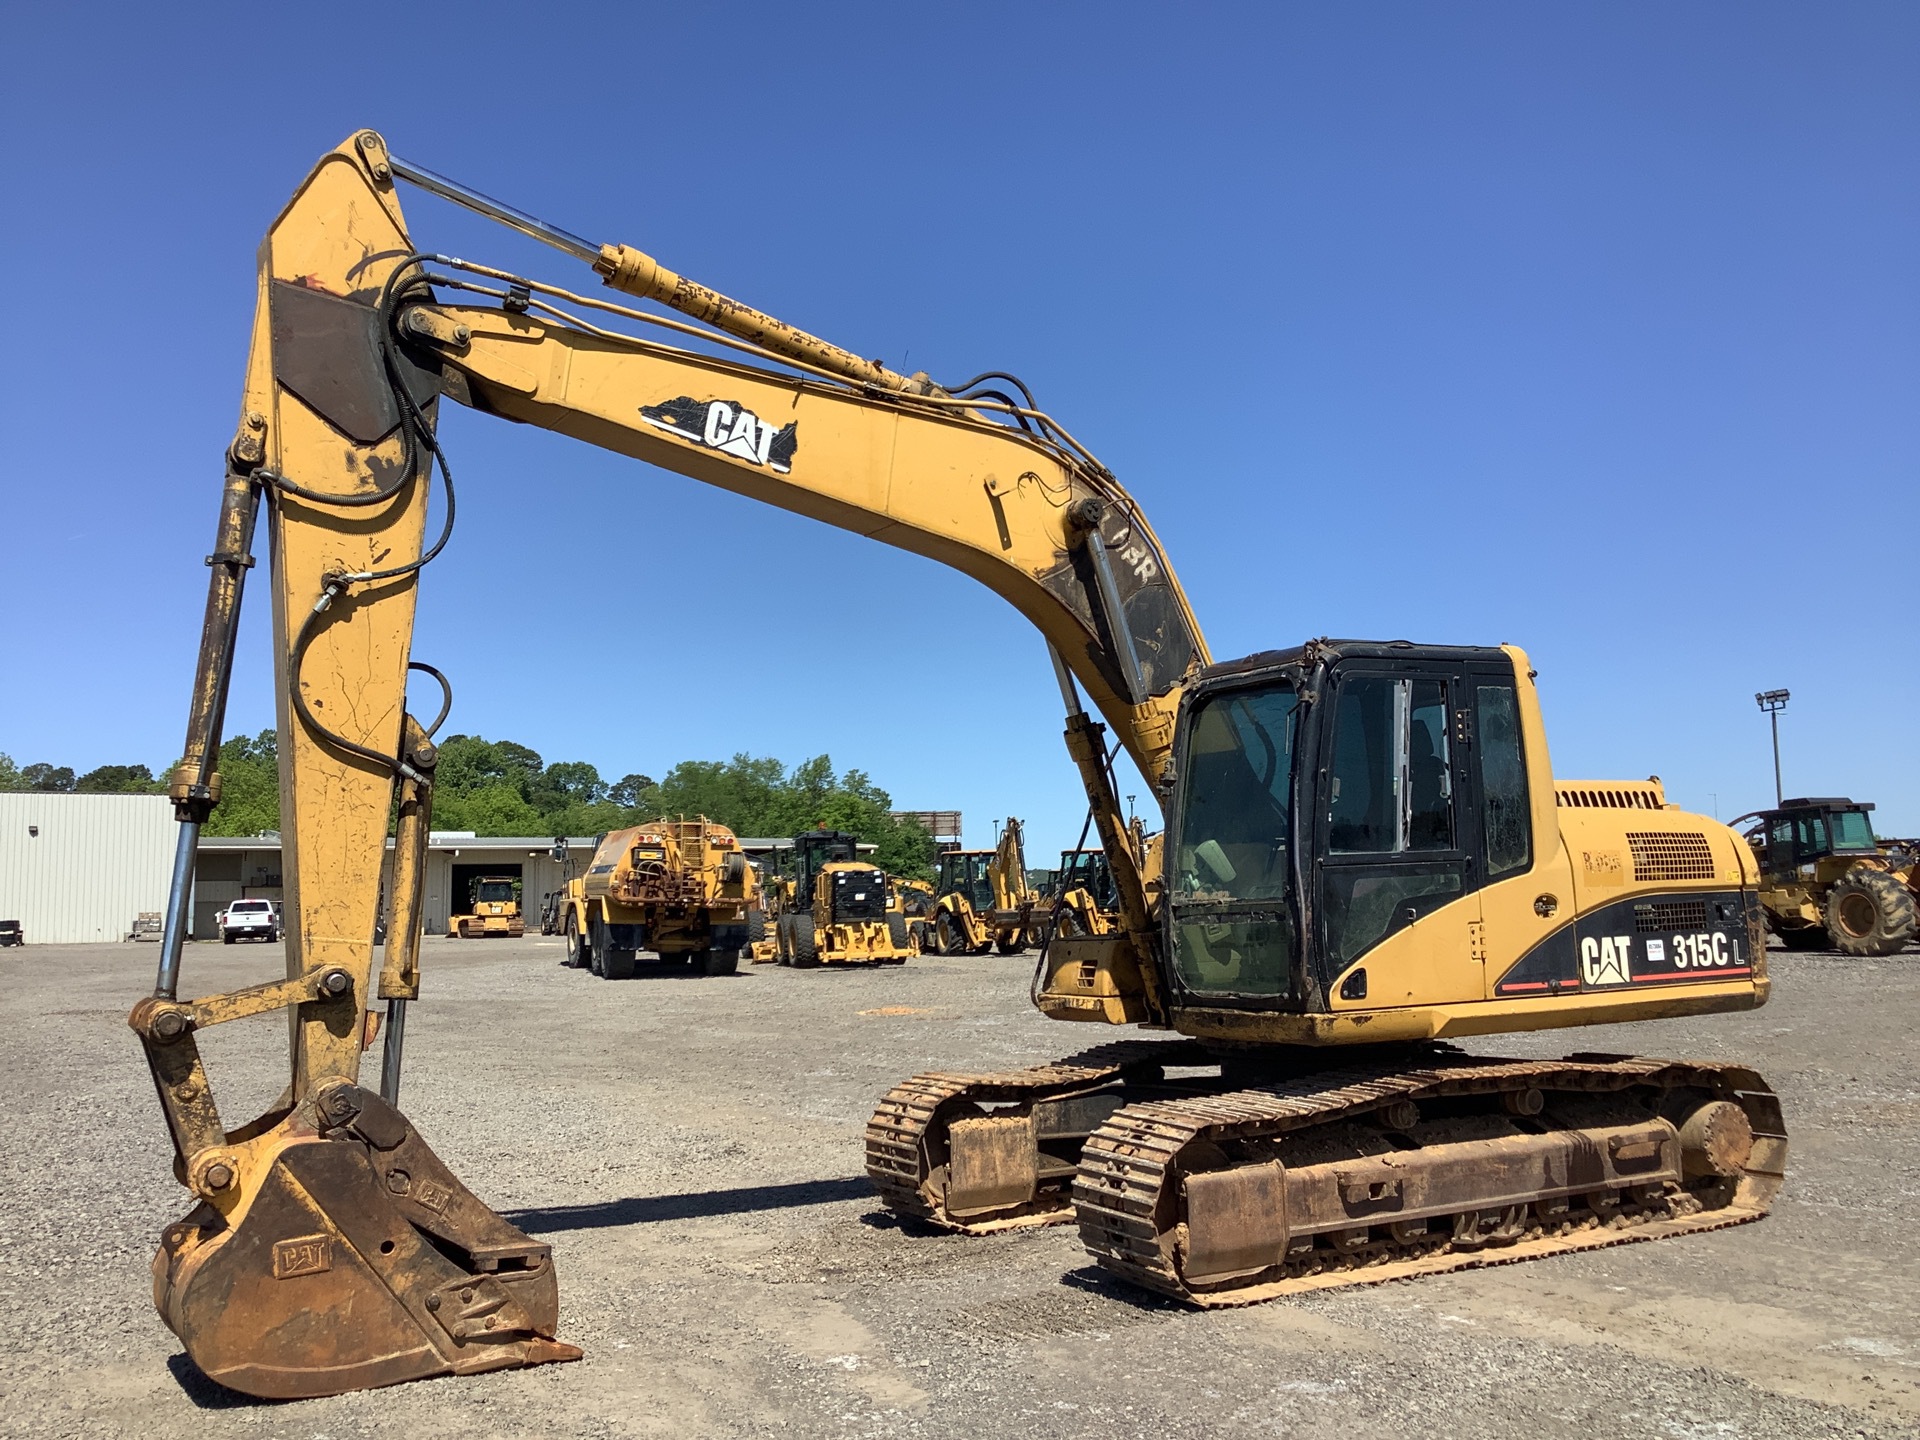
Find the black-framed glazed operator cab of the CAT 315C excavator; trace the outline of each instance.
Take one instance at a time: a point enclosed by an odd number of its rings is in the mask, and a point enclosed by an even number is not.
[[[1505,653],[1342,643],[1221,668],[1194,689],[1175,751],[1175,1004],[1363,1000],[1380,947],[1476,924],[1473,897],[1532,866]],[[1461,977],[1457,998],[1482,998],[1478,979]]]

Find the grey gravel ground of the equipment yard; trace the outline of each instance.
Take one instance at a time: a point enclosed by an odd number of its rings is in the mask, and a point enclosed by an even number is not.
[[[897,1079],[1098,1037],[1025,958],[605,983],[557,941],[428,941],[405,1110],[555,1248],[576,1365],[255,1404],[202,1379],[148,1261],[186,1210],[127,1008],[152,947],[0,952],[25,1050],[0,1112],[0,1434],[1920,1434],[1920,952],[1782,954],[1751,1016],[1488,1041],[1743,1058],[1793,1133],[1774,1215],[1715,1235],[1194,1313],[1108,1284],[1069,1227],[906,1233],[860,1175]],[[190,947],[182,993],[276,977]],[[238,1119],[284,1029],[213,1031]]]

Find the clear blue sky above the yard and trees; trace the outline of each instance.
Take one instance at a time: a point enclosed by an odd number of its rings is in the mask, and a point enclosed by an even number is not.
[[[1016,371],[1217,657],[1521,643],[1559,774],[1722,818],[1772,797],[1786,685],[1788,793],[1920,833],[1912,6],[182,10],[8,12],[19,762],[179,751],[253,250],[372,125],[862,355]],[[591,284],[405,202],[417,242]],[[609,776],[828,751],[979,843],[1077,833],[1044,651],[973,582],[557,436],[444,440],[415,653],[449,730]],[[660,580],[720,597],[676,645],[570,632]],[[230,732],[271,724],[263,599]],[[812,699],[822,655],[866,699]]]

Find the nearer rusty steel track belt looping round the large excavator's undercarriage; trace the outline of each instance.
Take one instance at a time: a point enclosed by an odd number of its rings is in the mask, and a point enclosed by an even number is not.
[[[1734,1204],[1693,1215],[1649,1219],[1630,1229],[1594,1227],[1571,1235],[1542,1235],[1507,1246],[1452,1250],[1440,1246],[1417,1256],[1375,1254],[1352,1269],[1327,1269],[1235,1288],[1192,1290],[1162,1248],[1156,1213],[1169,1187],[1181,1150],[1196,1140],[1246,1140],[1283,1135],[1363,1116],[1396,1100],[1430,1100],[1457,1094],[1496,1094],[1513,1089],[1609,1092],[1642,1085],[1701,1087],[1722,1098],[1745,1100],[1755,1131],[1755,1156]],[[1759,1112],[1759,1114],[1755,1114]],[[1772,1144],[1768,1144],[1772,1142]],[[1459,1056],[1413,1069],[1392,1066],[1319,1071],[1296,1081],[1183,1100],[1144,1100],[1108,1117],[1081,1152],[1073,1181],[1073,1210],[1081,1240],[1094,1260],[1133,1284],[1177,1296],[1194,1306],[1246,1306],[1283,1294],[1327,1290],[1346,1284],[1380,1284],[1415,1275],[1436,1275],[1480,1265],[1513,1265],[1574,1250],[1657,1240],[1670,1235],[1722,1229],[1761,1219],[1786,1164],[1786,1133],[1772,1091],[1751,1069],[1676,1060],[1571,1056],[1569,1060],[1488,1062]]]

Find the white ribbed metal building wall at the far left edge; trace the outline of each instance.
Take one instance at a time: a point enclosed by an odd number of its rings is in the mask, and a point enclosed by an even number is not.
[[[167,908],[175,833],[165,795],[0,793],[0,920],[29,945],[123,941]]]

